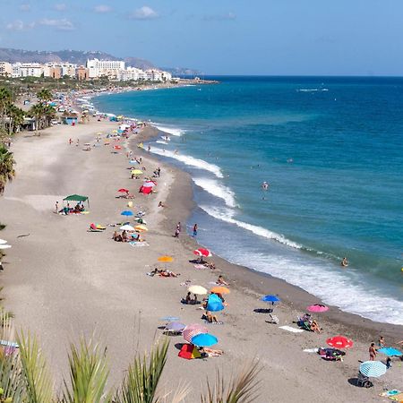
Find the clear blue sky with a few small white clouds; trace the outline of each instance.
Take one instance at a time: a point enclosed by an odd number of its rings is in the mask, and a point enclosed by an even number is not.
[[[205,74],[403,75],[403,1],[0,0],[0,47]]]

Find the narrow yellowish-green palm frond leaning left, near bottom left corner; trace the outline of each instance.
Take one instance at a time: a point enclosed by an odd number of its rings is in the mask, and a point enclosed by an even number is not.
[[[20,344],[21,375],[26,389],[26,403],[47,403],[52,401],[53,382],[47,361],[39,347],[38,339],[21,331]]]

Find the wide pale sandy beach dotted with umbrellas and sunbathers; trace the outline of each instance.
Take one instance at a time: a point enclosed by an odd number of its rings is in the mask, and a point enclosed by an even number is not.
[[[369,359],[368,347],[382,335],[387,345],[403,339],[401,326],[366,320],[330,307],[327,313],[314,317],[323,328],[321,334],[304,331],[293,333],[279,328],[297,328],[298,315],[317,298],[292,287],[285,281],[264,276],[247,268],[235,266],[218,256],[209,258],[217,270],[193,267],[193,249],[197,246],[183,229],[175,238],[176,223],[185,228],[194,207],[190,177],[140,150],[136,144],[157,134],[146,128],[133,135],[118,153],[111,145],[83,151],[82,144],[94,143],[97,133],[108,133],[117,124],[91,120],[89,124],[71,127],[57,125],[39,136],[22,133],[14,141],[16,177],[0,198],[0,222],[7,225],[2,237],[13,245],[4,258],[4,305],[15,314],[17,328],[31,330],[47,355],[56,387],[61,374],[66,374],[66,351],[70,342],[81,335],[94,334],[107,346],[113,387],[136,352],[148,349],[162,335],[159,326],[165,316],[177,316],[184,323],[201,323],[201,310],[195,305],[181,304],[187,287],[210,288],[219,274],[229,282],[231,294],[227,308],[218,313],[220,325],[211,325],[210,332],[219,338],[216,346],[224,355],[204,360],[186,361],[177,356],[182,337],[172,337],[168,351],[167,370],[161,387],[173,390],[188,382],[191,392],[187,402],[198,401],[201,381],[214,377],[216,368],[229,377],[245,362],[259,360],[261,397],[258,402],[325,401],[366,402],[390,401],[379,396],[383,388],[402,388],[402,367],[396,359],[382,378],[374,380],[371,389],[358,388],[354,379],[360,361]],[[105,135],[103,135],[105,137]],[[69,139],[73,145],[69,145]],[[75,146],[76,139],[80,146]],[[127,149],[125,149],[127,147]],[[125,150],[141,157],[146,173],[160,167],[157,194],[138,193],[141,179],[131,179]],[[149,246],[133,247],[116,243],[112,234],[122,221],[127,200],[116,199],[121,187],[134,194],[133,211],[145,210]],[[72,193],[90,197],[90,214],[61,216],[54,214],[55,203]],[[166,207],[158,207],[163,201]],[[87,232],[90,223],[107,226],[105,232]],[[201,224],[201,223],[199,223]],[[20,237],[19,237],[20,236]],[[168,269],[178,278],[150,277],[163,254],[173,256]],[[254,310],[267,308],[261,296],[278,294],[282,303],[275,308],[279,325],[267,323],[267,314]],[[326,339],[342,334],[355,342],[343,362],[328,362],[304,349],[326,347]],[[384,360],[379,356],[378,359]]]

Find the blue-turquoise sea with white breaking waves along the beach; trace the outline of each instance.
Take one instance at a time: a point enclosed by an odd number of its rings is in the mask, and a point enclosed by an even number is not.
[[[151,152],[193,177],[201,244],[403,324],[403,79],[211,78],[94,103],[168,133]]]

